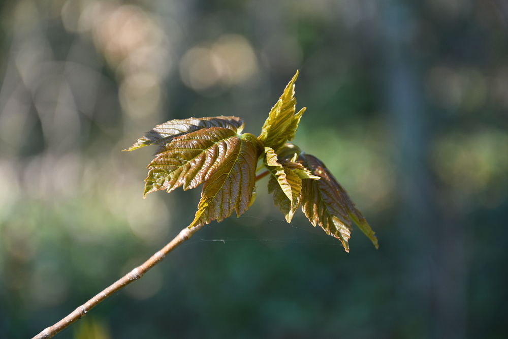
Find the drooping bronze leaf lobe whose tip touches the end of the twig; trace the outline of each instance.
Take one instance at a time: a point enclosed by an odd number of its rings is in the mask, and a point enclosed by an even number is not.
[[[212,174],[206,178],[201,200],[194,221],[189,228],[223,221],[233,211],[237,217],[249,207],[255,190],[256,164],[262,148],[258,139],[250,133],[231,135],[220,129],[223,136],[217,138],[220,146]],[[227,135],[230,135],[227,137]]]

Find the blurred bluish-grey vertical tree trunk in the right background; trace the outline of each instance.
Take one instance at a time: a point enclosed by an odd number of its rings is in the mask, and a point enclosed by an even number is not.
[[[428,151],[436,133],[423,95],[424,78],[418,56],[410,51],[408,10],[392,4],[385,22],[388,43],[384,69],[386,105],[393,114],[399,145],[399,228],[406,242],[402,279],[420,300],[411,312],[430,322],[427,335],[439,339],[467,336],[465,232],[458,213],[447,213],[439,202],[438,187],[428,164]],[[408,226],[410,225],[410,226]],[[410,227],[410,228],[409,228]],[[429,314],[430,313],[430,314]]]

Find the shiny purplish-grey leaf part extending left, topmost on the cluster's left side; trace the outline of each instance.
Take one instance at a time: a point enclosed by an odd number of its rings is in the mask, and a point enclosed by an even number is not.
[[[243,119],[236,116],[215,116],[215,117],[205,117],[205,118],[188,118],[183,120],[170,120],[165,122],[162,125],[155,126],[149,132],[139,138],[138,141],[132,145],[129,149],[124,150],[134,150],[143,146],[148,146],[151,144],[154,145],[163,145],[171,142],[174,138],[179,136],[183,136],[187,133],[192,133],[199,131],[204,128],[210,127],[222,127],[228,128],[230,130],[235,131],[236,133],[241,133],[243,130],[244,122]],[[162,147],[157,150],[157,153],[162,151]]]

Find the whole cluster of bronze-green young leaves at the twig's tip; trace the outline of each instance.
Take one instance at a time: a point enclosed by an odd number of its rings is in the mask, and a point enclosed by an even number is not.
[[[325,164],[290,142],[306,109],[296,111],[297,77],[298,72],[270,110],[259,137],[242,133],[239,117],[216,116],[170,120],[138,139],[126,150],[158,146],[147,167],[144,197],[203,183],[191,228],[223,221],[233,211],[239,217],[255,200],[257,178],[268,174],[268,192],[288,223],[301,206],[312,225],[338,238],[346,252],[353,221],[377,248],[374,232]],[[258,162],[267,173],[257,177]]]

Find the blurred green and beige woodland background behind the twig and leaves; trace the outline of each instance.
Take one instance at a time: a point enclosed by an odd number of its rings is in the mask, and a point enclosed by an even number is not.
[[[508,337],[506,1],[0,6],[0,337],[39,333],[193,220],[200,190],[143,200],[154,149],[122,149],[191,116],[259,135],[297,69],[295,143],[379,250],[285,223],[264,179],[57,337]]]

